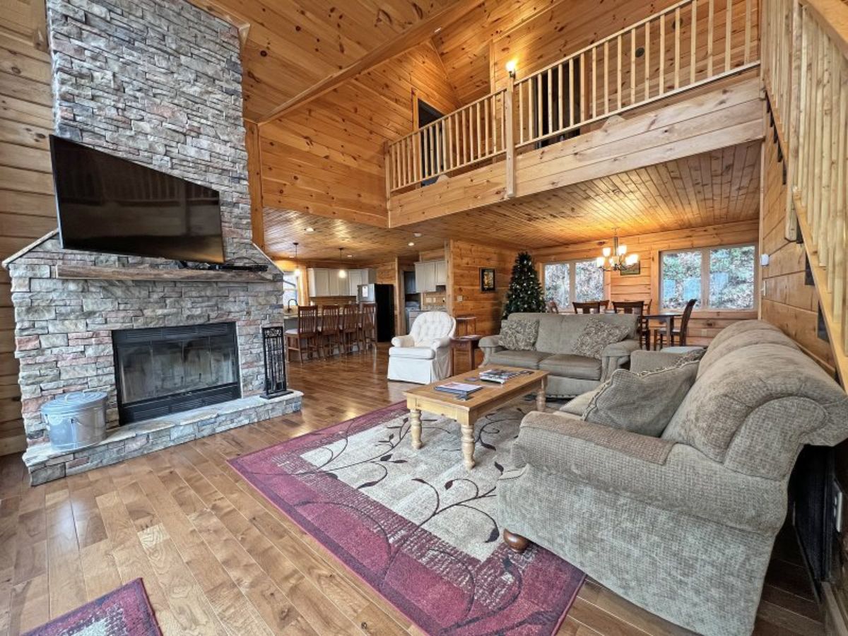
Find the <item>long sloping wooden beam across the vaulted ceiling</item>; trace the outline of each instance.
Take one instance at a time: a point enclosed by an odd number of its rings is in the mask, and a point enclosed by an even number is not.
[[[213,3],[216,3],[216,0],[213,0]],[[482,3],[483,0],[457,0],[457,2],[451,4],[449,7],[433,14],[427,20],[421,20],[421,22],[411,26],[406,31],[399,33],[398,36],[393,37],[388,42],[384,42],[379,47],[371,50],[371,52],[366,53],[365,56],[358,59],[354,64],[350,64],[337,73],[327,75],[324,80],[318,82],[315,86],[310,86],[310,88],[295,95],[286,103],[282,103],[271,111],[271,114],[265,117],[264,120],[259,121],[259,126],[267,124],[271,120],[276,120],[291,110],[303,106],[305,103],[310,103],[315,98],[320,98],[321,95],[332,91],[336,86],[377,66],[377,64],[382,64],[388,59],[392,59],[400,53],[416,47],[421,42],[427,42],[432,38],[437,29],[444,29],[447,25],[460,20]]]

